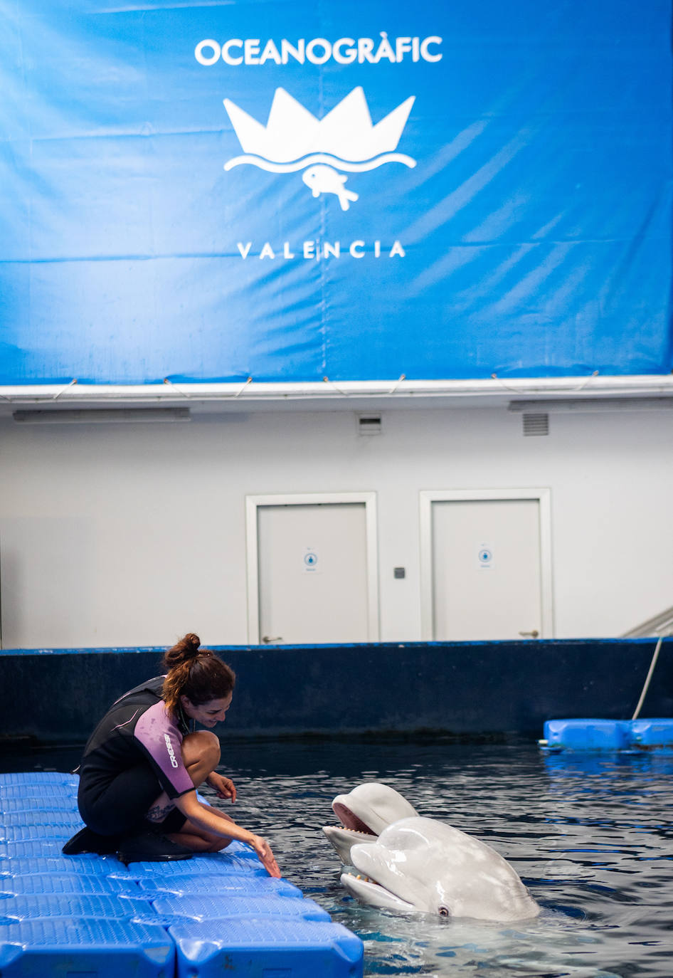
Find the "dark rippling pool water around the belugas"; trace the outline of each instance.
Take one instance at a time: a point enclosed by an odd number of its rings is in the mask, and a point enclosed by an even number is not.
[[[64,771],[77,759],[43,752],[0,766]],[[221,770],[238,801],[214,803],[266,835],[283,875],[358,933],[365,975],[673,976],[673,757],[549,755],[527,743],[241,742],[224,733]],[[385,781],[420,815],[497,849],[540,916],[498,925],[359,907],[320,829],[336,823],[334,795],[363,780]]]

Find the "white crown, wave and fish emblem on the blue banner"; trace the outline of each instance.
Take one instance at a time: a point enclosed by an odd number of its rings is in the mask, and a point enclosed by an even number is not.
[[[231,170],[241,163],[251,163],[272,173],[290,173],[309,167],[302,179],[314,197],[321,193],[335,194],[342,209],[348,210],[350,201],[358,200],[358,195],[344,189],[348,178],[338,170],[358,173],[392,162],[416,165],[411,156],[396,152],[414,101],[415,96],[409,96],[373,125],[364,91],[359,86],[321,119],[284,88],[276,88],[265,126],[231,99],[225,99],[225,108],[244,154],[229,159],[225,169]]]

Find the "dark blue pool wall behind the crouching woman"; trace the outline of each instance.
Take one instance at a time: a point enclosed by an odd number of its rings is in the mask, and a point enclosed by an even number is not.
[[[559,717],[629,719],[651,640],[219,646],[237,674],[227,732],[519,733]],[[85,739],[108,705],[160,672],[161,648],[0,652],[0,739]],[[673,716],[673,639],[642,716]]]

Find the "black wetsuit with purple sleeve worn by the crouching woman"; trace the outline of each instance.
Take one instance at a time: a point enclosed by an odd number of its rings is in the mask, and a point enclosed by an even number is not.
[[[187,719],[166,710],[163,676],[124,693],[89,737],[79,768],[77,804],[89,828],[117,835],[142,827],[152,803],[165,791],[179,798],[194,786],[181,744]],[[174,809],[158,827],[178,831],[185,817]]]

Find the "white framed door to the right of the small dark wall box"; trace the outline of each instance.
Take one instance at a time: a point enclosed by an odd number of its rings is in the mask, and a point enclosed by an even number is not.
[[[430,522],[434,640],[548,631],[539,499],[434,500]]]

